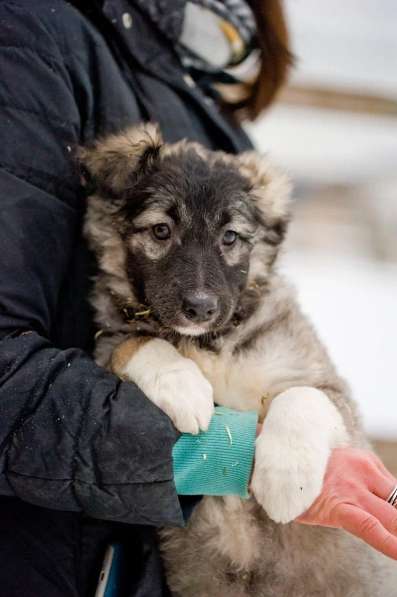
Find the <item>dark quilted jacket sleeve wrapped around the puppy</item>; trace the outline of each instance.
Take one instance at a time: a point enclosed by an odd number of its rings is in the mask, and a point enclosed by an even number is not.
[[[81,122],[62,51],[24,6],[0,7],[0,494],[179,523],[169,419],[50,341],[82,219],[70,159]]]

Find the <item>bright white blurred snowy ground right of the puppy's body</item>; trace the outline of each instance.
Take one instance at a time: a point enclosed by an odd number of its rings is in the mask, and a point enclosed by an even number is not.
[[[397,266],[296,253],[282,269],[374,437],[397,440]]]

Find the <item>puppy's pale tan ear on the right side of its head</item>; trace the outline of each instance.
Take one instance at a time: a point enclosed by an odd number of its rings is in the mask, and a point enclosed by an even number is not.
[[[278,245],[290,219],[291,182],[267,157],[255,151],[242,153],[236,159],[241,174],[250,182],[250,197],[266,230],[265,240]]]

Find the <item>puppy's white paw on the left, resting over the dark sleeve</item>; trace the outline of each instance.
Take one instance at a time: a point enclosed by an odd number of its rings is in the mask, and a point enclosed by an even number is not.
[[[213,412],[211,384],[191,359],[164,340],[150,340],[127,362],[123,376],[145,392],[182,433],[206,431]]]

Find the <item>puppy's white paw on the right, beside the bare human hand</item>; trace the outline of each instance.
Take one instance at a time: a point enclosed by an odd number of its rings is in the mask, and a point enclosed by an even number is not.
[[[287,523],[319,496],[331,450],[346,440],[340,413],[309,387],[277,396],[256,442],[251,489],[275,522]]]

